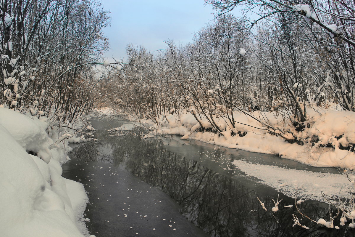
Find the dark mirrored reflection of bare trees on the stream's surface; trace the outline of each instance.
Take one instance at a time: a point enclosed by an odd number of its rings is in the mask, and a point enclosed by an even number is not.
[[[295,208],[286,196],[274,213],[265,212],[256,192],[237,181],[201,166],[198,162],[167,151],[157,140],[142,141],[138,136],[109,139],[100,144],[86,144],[75,155],[83,161],[107,161],[125,167],[148,184],[161,189],[181,205],[181,213],[210,236],[348,236],[344,230],[331,233],[307,220],[310,230],[292,227]],[[82,151],[82,150],[87,150]],[[87,157],[87,158],[85,158]],[[113,158],[114,157],[114,158]],[[277,196],[277,194],[275,194]],[[268,210],[275,196],[259,196]],[[305,213],[318,220],[328,209],[317,203],[301,204]],[[255,210],[255,212],[251,212]],[[324,233],[322,233],[322,231]],[[333,230],[335,231],[335,230]]]

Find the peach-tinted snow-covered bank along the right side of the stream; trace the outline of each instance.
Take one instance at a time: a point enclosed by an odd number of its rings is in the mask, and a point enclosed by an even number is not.
[[[308,108],[308,127],[301,131],[297,131],[289,121],[285,122],[280,112],[255,111],[250,114],[234,113],[234,125],[226,117],[214,115],[220,132],[203,115],[197,115],[201,118],[197,121],[187,111],[181,115],[162,115],[159,124],[151,122],[151,126],[154,124],[159,134],[182,135],[182,139],[275,154],[310,166],[355,169],[355,112],[316,111]],[[283,137],[269,133],[265,124],[272,124]],[[303,144],[299,145],[296,140],[294,143],[286,141],[285,137],[297,138]]]

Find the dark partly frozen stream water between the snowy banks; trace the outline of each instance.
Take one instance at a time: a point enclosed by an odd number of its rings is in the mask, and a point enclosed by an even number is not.
[[[122,123],[94,122],[94,127],[109,129]],[[232,162],[242,156],[281,167],[308,166],[277,156],[215,151],[178,138],[142,140],[133,134],[118,138],[104,130],[96,133],[100,141],[76,147],[72,161],[63,166],[63,175],[81,179],[85,185],[90,200],[87,224],[97,237],[353,236],[345,228],[328,230],[305,218],[301,223],[309,230],[292,227],[292,215],[301,216],[294,206],[284,205],[294,205],[295,200],[243,176]],[[257,200],[271,210],[272,199],[278,195],[284,200],[274,214],[265,212]],[[315,220],[329,212],[327,205],[315,201],[306,201],[300,208]]]

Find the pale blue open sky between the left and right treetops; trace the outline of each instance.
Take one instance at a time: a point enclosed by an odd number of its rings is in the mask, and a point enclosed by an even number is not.
[[[127,59],[126,45],[143,45],[154,52],[165,49],[163,43],[192,41],[193,32],[213,21],[211,5],[203,0],[102,0],[110,11],[111,26],[103,33],[109,38],[110,50],[104,53],[109,61]],[[114,59],[113,59],[114,58]]]

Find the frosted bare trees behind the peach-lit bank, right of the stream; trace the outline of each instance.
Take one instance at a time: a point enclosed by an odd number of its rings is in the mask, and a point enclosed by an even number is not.
[[[209,3],[218,16],[192,43],[167,41],[158,55],[127,47],[133,66],[103,85],[111,91],[110,104],[156,121],[186,109],[201,128],[203,117],[217,133],[218,119],[234,127],[234,113],[245,113],[286,140],[294,140],[289,130],[252,112],[277,111],[293,133],[309,127],[308,110],[355,111],[354,2]],[[238,5],[246,14],[258,9],[259,16],[231,15]]]

